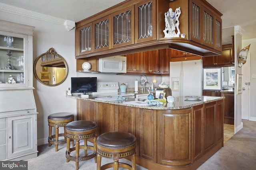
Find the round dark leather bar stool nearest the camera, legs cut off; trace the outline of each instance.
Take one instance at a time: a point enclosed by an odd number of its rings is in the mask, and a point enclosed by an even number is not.
[[[119,167],[129,170],[136,170],[136,137],[127,132],[107,132],[97,138],[97,170],[105,170]],[[111,158],[113,163],[104,164],[101,166],[101,157]],[[118,162],[121,158],[132,156],[132,165]]]

